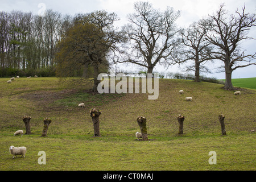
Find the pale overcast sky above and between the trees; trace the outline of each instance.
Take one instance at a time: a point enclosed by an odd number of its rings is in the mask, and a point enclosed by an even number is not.
[[[133,5],[137,0],[0,0],[0,11],[20,10],[23,12],[32,11],[34,14],[42,12],[44,8],[58,11],[61,14],[75,15],[77,13],[90,13],[94,10],[106,10],[109,13],[116,13],[121,20],[116,26],[122,26],[127,23],[126,15],[133,13]],[[255,0],[148,0],[156,9],[165,10],[167,6],[174,7],[174,10],[180,10],[181,16],[177,20],[180,27],[187,27],[189,24],[212,15],[221,3],[225,2],[225,8],[229,13],[234,13],[238,8],[241,10],[243,5],[246,6],[246,12],[256,13]],[[256,38],[256,27],[250,31],[250,36]],[[243,43],[245,49],[249,52],[256,51],[256,40],[250,40]],[[213,64],[211,64],[213,66]],[[129,69],[136,69],[137,66]],[[170,67],[167,71],[179,72],[181,68]],[[183,70],[183,69],[182,69]],[[165,71],[162,67],[156,67],[158,72]],[[214,70],[213,70],[214,72]],[[225,78],[225,73],[214,73],[217,78]],[[256,65],[246,68],[238,68],[233,72],[232,78],[256,77]]]

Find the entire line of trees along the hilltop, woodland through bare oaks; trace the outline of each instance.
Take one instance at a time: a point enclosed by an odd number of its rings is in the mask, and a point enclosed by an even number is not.
[[[129,23],[119,29],[115,13],[104,10],[75,16],[47,10],[45,16],[12,11],[0,13],[0,68],[22,71],[51,69],[57,76],[93,77],[110,64],[133,63],[152,73],[157,64],[169,67],[192,61],[188,69],[199,81],[207,61],[221,61],[226,81],[224,89],[234,89],[232,72],[255,65],[256,52],[247,54],[241,47],[255,14],[237,9],[229,14],[220,8],[187,28],[177,26],[180,11],[172,7],[154,9],[148,2],[136,2]],[[219,65],[219,64],[218,64]],[[56,70],[56,72],[55,72]],[[0,75],[1,76],[1,75]]]

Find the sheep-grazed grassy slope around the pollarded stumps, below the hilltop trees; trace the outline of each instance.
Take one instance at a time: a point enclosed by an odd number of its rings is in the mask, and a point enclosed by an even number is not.
[[[159,80],[159,97],[147,94],[92,94],[76,82],[58,78],[0,78],[0,170],[255,170],[256,90],[240,96],[223,85],[188,80]],[[179,94],[183,89],[184,94]],[[192,102],[185,97],[193,97]],[[81,102],[85,108],[78,107]],[[102,137],[93,137],[89,110],[100,109]],[[177,115],[184,134],[178,135]],[[225,115],[221,136],[218,115]],[[30,115],[31,135],[23,115]],[[147,118],[148,141],[138,141],[137,117]],[[40,137],[51,118],[48,137]],[[27,147],[26,158],[12,158],[9,147]],[[39,151],[46,164],[38,164]],[[210,165],[209,152],[217,164]]]

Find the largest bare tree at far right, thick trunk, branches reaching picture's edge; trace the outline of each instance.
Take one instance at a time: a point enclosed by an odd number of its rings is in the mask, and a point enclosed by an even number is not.
[[[226,15],[224,5],[221,5],[216,14],[210,16],[210,31],[207,36],[210,43],[217,47],[213,59],[224,62],[226,74],[224,89],[233,90],[232,72],[237,68],[256,65],[256,52],[246,54],[239,46],[242,40],[253,39],[246,35],[251,27],[256,26],[256,16],[245,13],[245,6],[242,7],[242,12],[237,9],[235,15],[232,14],[229,18]]]

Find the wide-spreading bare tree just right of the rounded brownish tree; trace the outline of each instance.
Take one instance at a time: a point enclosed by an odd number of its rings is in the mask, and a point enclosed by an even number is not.
[[[128,15],[130,23],[122,28],[129,40],[126,55],[115,62],[137,64],[152,73],[156,64],[171,64],[175,57],[180,44],[175,21],[180,11],[167,7],[162,12],[148,2],[137,2],[134,9],[135,13]]]

